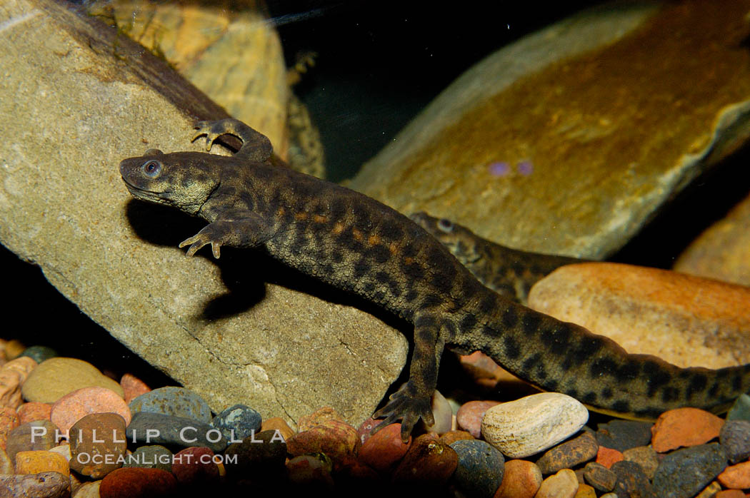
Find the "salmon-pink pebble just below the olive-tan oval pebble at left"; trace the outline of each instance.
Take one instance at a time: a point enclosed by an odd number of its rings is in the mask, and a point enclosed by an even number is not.
[[[69,392],[52,404],[49,418],[65,434],[91,413],[117,413],[130,424],[130,408],[116,392],[106,387],[83,387]]]

